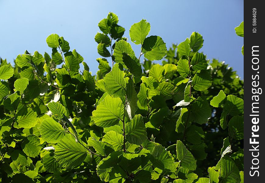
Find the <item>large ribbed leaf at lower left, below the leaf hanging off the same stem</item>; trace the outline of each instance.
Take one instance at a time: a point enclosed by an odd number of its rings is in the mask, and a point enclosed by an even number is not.
[[[80,142],[84,146],[85,143]],[[75,138],[71,134],[66,134],[57,145],[54,145],[54,158],[65,168],[74,168],[79,166],[87,157],[87,149],[76,143]]]

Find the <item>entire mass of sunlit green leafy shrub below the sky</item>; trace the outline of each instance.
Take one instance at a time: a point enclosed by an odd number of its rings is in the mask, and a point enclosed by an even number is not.
[[[143,19],[129,30],[137,58],[117,23],[98,25],[95,76],[57,34],[51,57],[1,59],[1,181],[243,182],[243,82],[209,64],[197,32],[167,51]]]

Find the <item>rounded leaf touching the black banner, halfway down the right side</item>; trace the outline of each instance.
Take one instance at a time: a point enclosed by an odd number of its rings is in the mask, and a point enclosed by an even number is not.
[[[224,104],[224,108],[231,116],[238,115],[244,110],[244,100],[238,98],[235,95],[228,95],[227,101]]]

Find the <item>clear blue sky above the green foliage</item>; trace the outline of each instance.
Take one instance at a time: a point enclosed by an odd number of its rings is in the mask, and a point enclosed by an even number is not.
[[[39,51],[51,54],[46,44],[49,34],[63,36],[84,57],[90,71],[96,74],[97,43],[94,36],[97,24],[113,12],[119,17],[119,25],[129,29],[142,18],[151,24],[149,35],[159,35],[169,48],[180,43],[193,31],[203,35],[201,51],[207,59],[225,61],[244,77],[241,47],[243,38],[234,28],[244,17],[243,0],[203,1],[36,1],[0,0],[0,56],[13,63],[18,54]],[[131,43],[130,39],[129,42]],[[139,45],[132,44],[136,55]]]

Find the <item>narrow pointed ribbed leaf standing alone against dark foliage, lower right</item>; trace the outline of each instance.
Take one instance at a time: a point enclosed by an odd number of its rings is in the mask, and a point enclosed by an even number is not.
[[[177,141],[177,158],[180,161],[180,166],[196,170],[196,160],[180,140]]]

